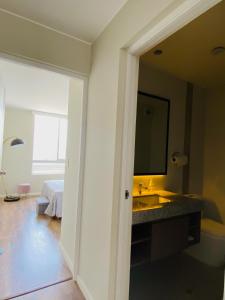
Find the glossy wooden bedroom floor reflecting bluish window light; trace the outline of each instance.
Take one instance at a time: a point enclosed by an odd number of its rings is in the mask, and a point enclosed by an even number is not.
[[[0,300],[71,279],[59,236],[60,221],[37,217],[34,198],[0,200]]]

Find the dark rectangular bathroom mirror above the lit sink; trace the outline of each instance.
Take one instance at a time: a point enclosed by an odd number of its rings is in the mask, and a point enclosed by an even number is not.
[[[138,92],[134,175],[167,174],[170,101]]]

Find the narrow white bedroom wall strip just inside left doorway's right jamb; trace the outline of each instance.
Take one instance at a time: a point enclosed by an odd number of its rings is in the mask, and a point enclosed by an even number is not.
[[[75,244],[74,239],[77,230],[79,230],[79,225],[77,225],[79,223],[77,208],[80,192],[80,144],[82,138],[83,105],[83,81],[71,79],[61,245],[72,273],[74,273],[75,264],[78,263],[78,261],[75,261],[75,247],[77,247],[78,244]]]

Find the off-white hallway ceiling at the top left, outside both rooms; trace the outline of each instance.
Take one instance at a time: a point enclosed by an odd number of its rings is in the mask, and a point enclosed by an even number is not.
[[[0,9],[93,42],[127,0],[0,0]]]

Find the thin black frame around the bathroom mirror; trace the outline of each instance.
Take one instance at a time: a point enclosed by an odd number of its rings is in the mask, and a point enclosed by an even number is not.
[[[149,173],[135,173],[134,172],[134,176],[148,176],[148,175],[167,175],[168,174],[168,148],[169,148],[169,125],[170,125],[170,99],[168,98],[164,98],[164,97],[160,97],[157,95],[153,95],[150,93],[145,93],[142,92],[140,90],[138,90],[137,95],[143,95],[143,96],[147,96],[147,97],[151,97],[155,100],[160,100],[160,101],[164,101],[167,102],[168,104],[168,112],[167,112],[167,134],[166,134],[166,157],[165,157],[165,171],[164,172],[149,172]],[[138,99],[137,99],[138,101]],[[135,157],[134,157],[135,159]]]

